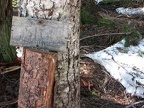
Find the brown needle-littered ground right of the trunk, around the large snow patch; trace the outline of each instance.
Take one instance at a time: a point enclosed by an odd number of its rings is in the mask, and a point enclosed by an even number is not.
[[[118,7],[142,7],[143,2],[109,3],[98,5],[99,17],[111,19],[114,27],[106,28],[107,24],[89,25],[85,24],[81,36],[81,54],[96,52],[121,40],[119,35],[112,33],[123,33],[121,28],[127,24],[131,28],[139,29],[143,35],[143,16],[124,16],[117,14]],[[106,22],[105,22],[106,23]],[[105,34],[105,35],[103,35]],[[97,35],[97,36],[95,36]],[[85,37],[91,36],[85,39]],[[90,41],[90,42],[89,42]],[[81,75],[81,108],[143,108],[144,100],[126,94],[125,88],[113,79],[104,67],[94,63],[89,58],[80,60]],[[137,102],[137,103],[136,103]]]

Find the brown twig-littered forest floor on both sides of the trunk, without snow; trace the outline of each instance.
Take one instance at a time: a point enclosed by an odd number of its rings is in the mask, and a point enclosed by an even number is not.
[[[118,7],[143,5],[143,2],[99,4],[96,19],[98,23],[81,25],[80,53],[107,48],[120,41],[126,32],[134,29],[144,35],[143,16],[124,16],[115,11]],[[85,38],[88,36],[91,37]],[[0,63],[0,72],[7,71],[10,66],[15,65],[20,66],[20,63],[17,61]],[[19,74],[20,69],[0,74],[0,108],[17,108]],[[124,87],[113,79],[103,66],[89,58],[80,59],[80,81],[81,108],[142,108],[144,105],[144,103],[136,104],[143,99],[126,94]]]

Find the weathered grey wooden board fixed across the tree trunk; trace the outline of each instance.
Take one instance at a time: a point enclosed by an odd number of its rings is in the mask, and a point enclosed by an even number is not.
[[[68,23],[25,17],[13,17],[10,44],[30,48],[65,51]]]

